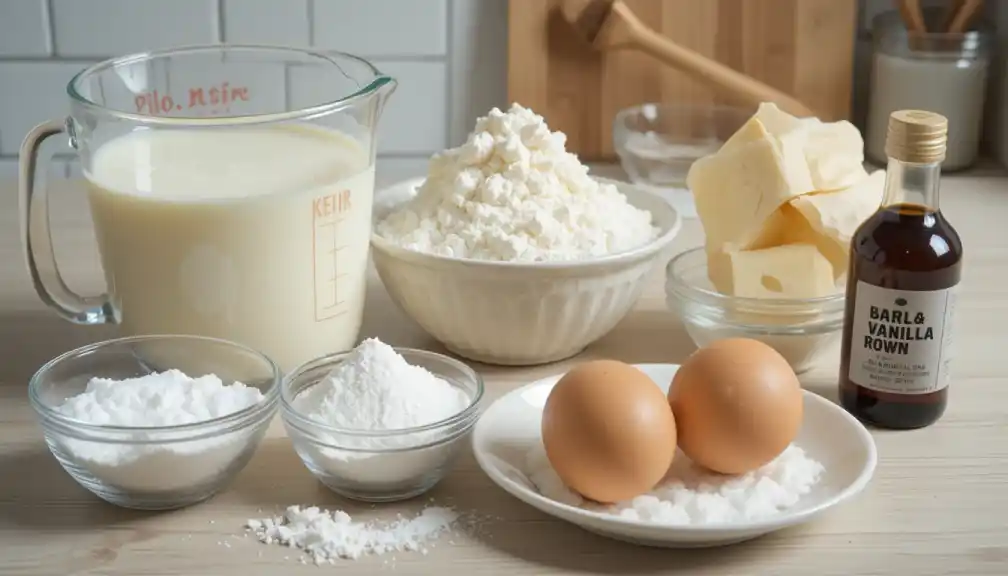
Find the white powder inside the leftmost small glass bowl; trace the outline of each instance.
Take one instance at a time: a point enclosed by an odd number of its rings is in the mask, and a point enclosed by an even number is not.
[[[248,431],[191,442],[158,444],[163,433],[144,428],[205,422],[262,401],[258,388],[225,385],[210,374],[192,378],[178,370],[113,380],[92,378],[85,391],[56,412],[92,425],[136,427],[128,438],[151,444],[104,444],[66,439],[78,464],[104,483],[130,491],[158,492],[214,481],[247,446]]]

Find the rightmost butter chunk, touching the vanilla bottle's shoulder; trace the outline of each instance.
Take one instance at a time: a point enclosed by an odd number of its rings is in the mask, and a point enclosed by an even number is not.
[[[875,170],[846,189],[796,198],[791,206],[815,234],[842,248],[846,255],[851,236],[862,222],[878,210],[883,194],[885,170]],[[829,253],[830,249],[824,251]]]

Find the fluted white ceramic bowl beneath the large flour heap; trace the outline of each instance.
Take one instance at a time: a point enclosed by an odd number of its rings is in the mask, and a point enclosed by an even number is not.
[[[600,181],[602,179],[599,179]],[[375,198],[375,218],[415,194],[422,179]],[[533,365],[574,356],[630,311],[681,227],[662,198],[615,181],[651,212],[659,236],[621,254],[573,262],[494,262],[407,250],[371,237],[375,268],[392,300],[454,353],[490,364]]]

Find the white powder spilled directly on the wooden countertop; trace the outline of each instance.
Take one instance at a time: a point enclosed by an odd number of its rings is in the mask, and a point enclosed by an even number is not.
[[[282,516],[250,520],[245,526],[263,544],[298,548],[316,564],[335,564],[366,554],[426,554],[429,543],[450,531],[458,519],[452,508],[429,506],[415,517],[381,525],[355,523],[343,510],[289,506]]]

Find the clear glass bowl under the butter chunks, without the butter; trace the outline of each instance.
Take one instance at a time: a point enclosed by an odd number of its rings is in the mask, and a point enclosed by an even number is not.
[[[795,373],[839,340],[843,293],[812,299],[767,300],[719,293],[708,276],[707,251],[692,248],[665,267],[665,302],[698,346],[724,338],[752,338],[779,352]]]

